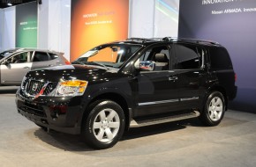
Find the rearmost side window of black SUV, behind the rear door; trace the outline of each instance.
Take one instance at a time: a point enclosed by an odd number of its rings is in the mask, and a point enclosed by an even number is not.
[[[212,69],[232,69],[230,54],[223,47],[211,47],[210,59]]]

